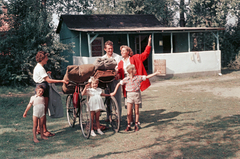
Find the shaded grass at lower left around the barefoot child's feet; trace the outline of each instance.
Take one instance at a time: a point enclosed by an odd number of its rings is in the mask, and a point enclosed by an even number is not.
[[[38,135],[37,138],[40,142],[35,144],[32,134],[32,108],[26,118],[22,117],[29,99],[30,97],[0,98],[1,158],[41,158],[46,155],[51,156],[51,154],[69,153],[86,147],[101,146],[104,143],[99,143],[99,141],[115,135],[115,132],[109,128],[105,131],[106,135],[85,139],[78,122],[74,128],[68,126],[66,114],[63,118],[58,119],[47,116],[48,129],[56,135],[44,141]],[[64,104],[65,97],[62,99]]]

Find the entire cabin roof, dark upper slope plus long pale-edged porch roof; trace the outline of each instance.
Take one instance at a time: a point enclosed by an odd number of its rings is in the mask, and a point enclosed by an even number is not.
[[[56,32],[64,22],[69,30],[82,32],[148,32],[224,30],[216,27],[163,27],[154,15],[62,15]]]

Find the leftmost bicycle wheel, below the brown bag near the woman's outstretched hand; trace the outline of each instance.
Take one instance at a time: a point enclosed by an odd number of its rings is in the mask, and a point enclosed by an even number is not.
[[[74,127],[76,122],[76,108],[73,107],[72,97],[72,95],[67,96],[66,107],[68,124],[69,126]]]

